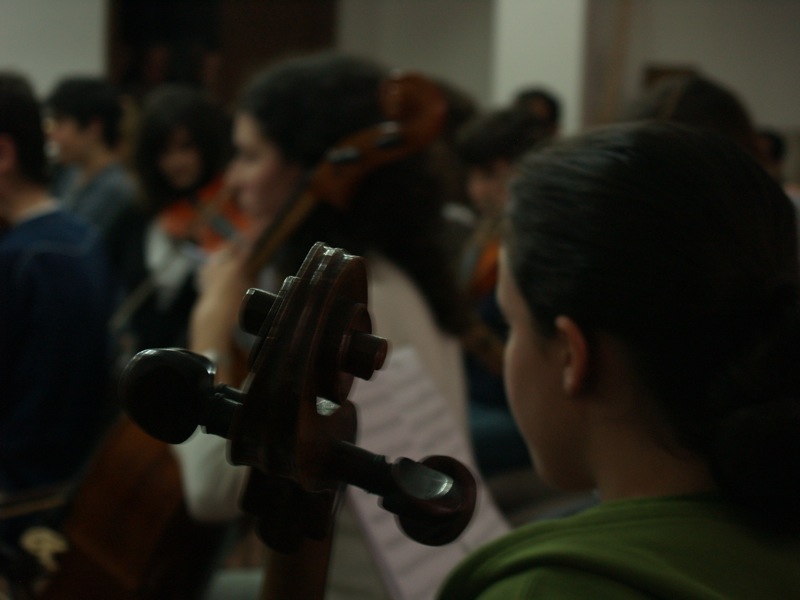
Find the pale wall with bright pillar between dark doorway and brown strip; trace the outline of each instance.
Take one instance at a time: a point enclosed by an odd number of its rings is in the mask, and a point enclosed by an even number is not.
[[[446,78],[479,104],[529,85],[580,120],[586,0],[340,0],[337,47]]]

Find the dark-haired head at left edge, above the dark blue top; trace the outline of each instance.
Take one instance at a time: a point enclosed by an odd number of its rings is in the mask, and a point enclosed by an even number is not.
[[[21,75],[0,72],[0,178],[9,176],[45,184],[47,158],[33,89]]]

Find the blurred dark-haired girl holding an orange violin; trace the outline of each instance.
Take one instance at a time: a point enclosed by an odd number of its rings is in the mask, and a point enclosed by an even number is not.
[[[133,156],[140,202],[112,236],[127,293],[112,326],[128,351],[185,344],[199,262],[247,228],[224,187],[230,157],[230,120],[205,92],[169,84],[147,98]]]

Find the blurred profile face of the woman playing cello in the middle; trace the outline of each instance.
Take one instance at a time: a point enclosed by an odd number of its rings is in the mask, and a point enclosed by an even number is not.
[[[229,184],[242,210],[258,220],[270,221],[295,192],[303,169],[287,162],[248,114],[236,116],[233,143],[236,157],[228,173]]]

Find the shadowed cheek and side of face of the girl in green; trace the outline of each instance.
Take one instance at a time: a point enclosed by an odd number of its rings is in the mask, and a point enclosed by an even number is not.
[[[514,418],[537,472],[562,489],[586,489],[581,431],[564,391],[564,346],[538,332],[501,253],[497,297],[509,325],[503,377]]]

